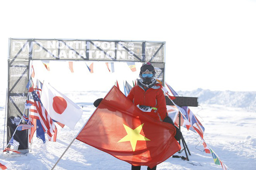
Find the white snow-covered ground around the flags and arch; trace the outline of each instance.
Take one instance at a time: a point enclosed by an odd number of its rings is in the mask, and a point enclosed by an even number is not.
[[[97,98],[103,98],[107,92],[69,92],[65,93],[71,100],[83,107],[84,113],[75,130],[58,126],[57,142],[46,141],[34,137],[31,152],[27,156],[4,158],[10,169],[44,170],[50,169],[74,139],[78,131],[93,113],[92,105]],[[3,148],[5,92],[0,92],[0,148]],[[205,127],[204,139],[218,154],[219,158],[234,170],[256,169],[256,112],[248,112],[238,107],[201,104],[201,107],[190,107]],[[221,169],[215,165],[211,154],[203,152],[203,146],[196,133],[182,128],[184,139],[191,152],[190,161],[181,158],[169,158],[157,166],[158,170],[213,170]],[[185,153],[175,155],[185,156]],[[75,140],[55,169],[66,170],[128,170],[130,164],[118,160],[100,150]],[[142,167],[146,170],[146,166]]]

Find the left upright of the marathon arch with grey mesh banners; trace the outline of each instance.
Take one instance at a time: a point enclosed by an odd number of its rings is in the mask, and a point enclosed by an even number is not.
[[[28,90],[26,84],[29,76],[29,61],[9,61],[8,76],[8,110],[7,110],[7,142],[16,129],[26,102]],[[27,112],[26,115],[28,116]],[[19,149],[28,149],[28,131],[16,131],[14,139],[20,143]]]

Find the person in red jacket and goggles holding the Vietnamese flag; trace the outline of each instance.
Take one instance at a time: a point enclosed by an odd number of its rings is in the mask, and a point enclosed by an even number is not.
[[[153,117],[156,120],[164,121],[174,125],[172,119],[168,117],[166,109],[166,101],[162,91],[162,85],[157,83],[155,77],[155,69],[151,63],[144,63],[140,68],[140,79],[138,85],[134,86],[127,98],[129,98],[136,106],[138,106],[145,114]],[[94,102],[94,106],[98,107],[102,98]],[[174,136],[177,141],[182,137],[182,133],[176,128],[176,135]],[[132,166],[132,170],[140,170],[141,166]],[[152,169],[156,170],[156,166]]]

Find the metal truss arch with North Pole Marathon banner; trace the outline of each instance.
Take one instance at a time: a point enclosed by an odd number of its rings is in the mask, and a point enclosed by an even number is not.
[[[164,83],[165,42],[95,39],[9,39],[7,141],[22,117],[28,95],[30,61],[150,62]],[[28,116],[28,111],[25,113]],[[28,131],[17,131],[19,150],[28,150]]]

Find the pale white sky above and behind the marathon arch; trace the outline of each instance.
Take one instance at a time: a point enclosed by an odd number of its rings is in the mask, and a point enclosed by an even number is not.
[[[0,6],[0,14],[0,91],[7,85],[10,37],[166,41],[165,78],[174,90],[256,91],[256,0],[12,0]],[[52,84],[62,88],[74,87],[83,75],[55,70],[49,81],[58,72],[64,75]],[[104,86],[124,74],[94,78]],[[90,78],[86,72],[76,86],[95,87]]]

